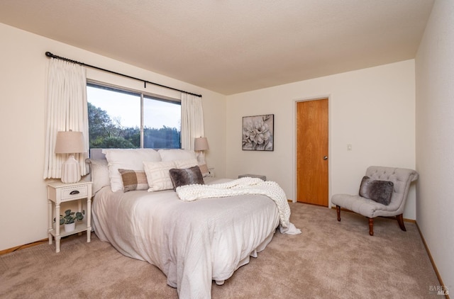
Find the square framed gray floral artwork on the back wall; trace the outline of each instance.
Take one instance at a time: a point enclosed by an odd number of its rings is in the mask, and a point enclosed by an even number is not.
[[[274,150],[274,131],[274,114],[243,116],[243,150]]]

